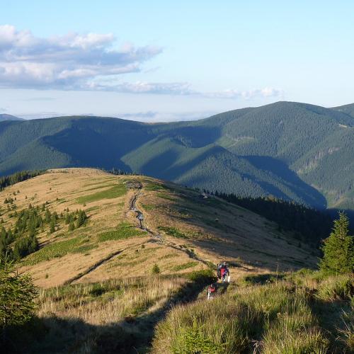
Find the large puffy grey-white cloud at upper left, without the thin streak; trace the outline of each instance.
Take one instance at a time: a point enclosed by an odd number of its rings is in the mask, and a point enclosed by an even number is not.
[[[89,89],[88,81],[139,72],[142,63],[161,52],[130,44],[117,50],[114,42],[110,33],[36,38],[28,30],[0,25],[0,86]]]

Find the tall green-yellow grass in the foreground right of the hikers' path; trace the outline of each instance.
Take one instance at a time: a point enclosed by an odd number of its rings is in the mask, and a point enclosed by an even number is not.
[[[352,287],[343,275],[316,280],[316,289],[295,281],[228,289],[171,310],[157,326],[153,353],[332,353],[338,343],[330,343],[314,304],[348,299]],[[350,338],[343,333],[337,353],[354,349]]]

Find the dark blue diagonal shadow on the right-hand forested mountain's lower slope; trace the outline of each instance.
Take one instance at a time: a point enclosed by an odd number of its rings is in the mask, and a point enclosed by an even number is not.
[[[290,170],[287,164],[280,161],[279,159],[274,159],[270,156],[244,156],[244,158],[249,161],[257,169],[262,169],[263,171],[269,171],[273,173],[278,178],[281,178],[283,183],[289,188],[292,193],[299,196],[306,202],[308,205],[318,207],[320,209],[326,208],[327,202],[324,195],[319,193],[318,190],[313,188],[311,185],[308,185],[302,181],[297,174]],[[258,182],[265,190],[268,190],[269,193],[274,193],[276,197],[282,198],[282,195],[277,195],[276,191],[273,191],[271,188],[269,190],[269,185],[263,185],[262,182]],[[288,198],[286,198],[288,199]]]

